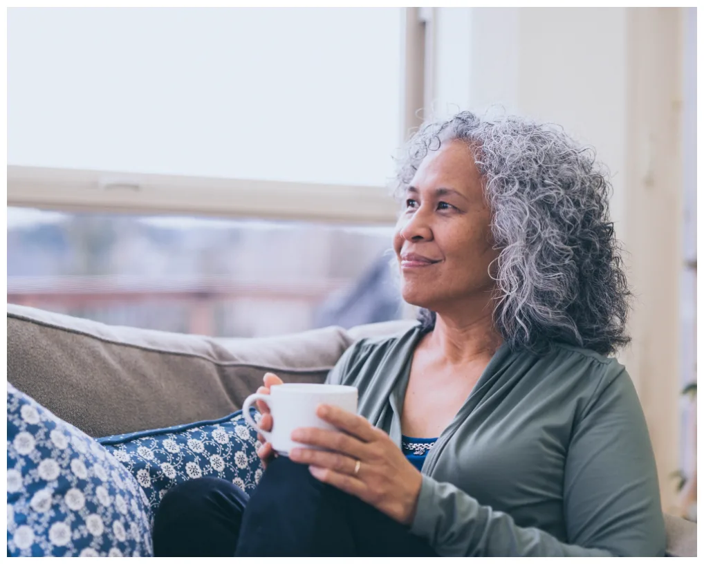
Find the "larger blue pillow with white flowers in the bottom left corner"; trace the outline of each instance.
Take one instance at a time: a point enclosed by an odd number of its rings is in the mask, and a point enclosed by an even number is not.
[[[8,556],[151,556],[149,513],[106,449],[8,383]]]

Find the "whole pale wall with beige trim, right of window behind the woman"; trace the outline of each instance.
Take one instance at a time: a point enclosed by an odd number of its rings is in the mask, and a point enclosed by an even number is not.
[[[634,341],[620,360],[646,413],[665,509],[679,467],[679,8],[436,8],[434,109],[561,124],[612,173],[630,253]]]

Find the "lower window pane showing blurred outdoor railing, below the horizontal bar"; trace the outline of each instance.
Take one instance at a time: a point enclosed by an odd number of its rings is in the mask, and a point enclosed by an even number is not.
[[[8,208],[8,302],[228,337],[400,319],[389,227]]]

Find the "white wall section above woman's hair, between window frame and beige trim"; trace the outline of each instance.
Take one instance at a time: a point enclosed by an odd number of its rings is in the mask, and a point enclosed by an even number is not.
[[[435,108],[565,127],[612,172],[623,221],[627,8],[438,8]]]

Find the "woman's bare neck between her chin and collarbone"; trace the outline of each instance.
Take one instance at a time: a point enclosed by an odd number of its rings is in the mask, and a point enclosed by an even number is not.
[[[472,319],[437,314],[435,328],[426,340],[426,344],[449,364],[467,364],[479,359],[489,361],[502,342],[501,335],[494,328],[491,310]]]

